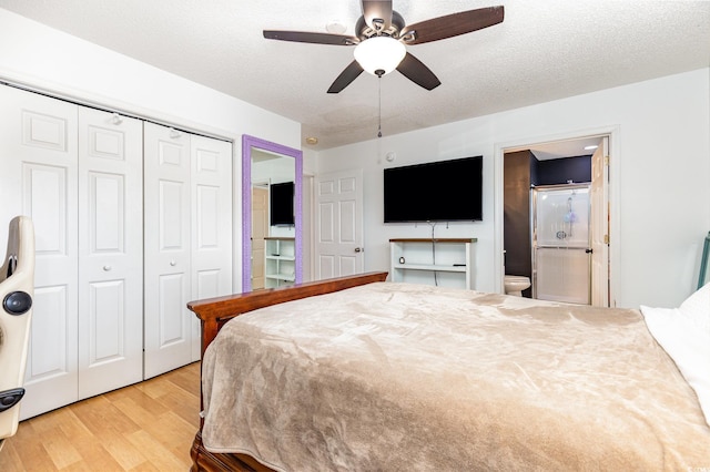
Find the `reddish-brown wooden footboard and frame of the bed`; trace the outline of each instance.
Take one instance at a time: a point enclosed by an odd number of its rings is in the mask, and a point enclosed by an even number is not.
[[[187,308],[194,311],[197,318],[200,318],[202,325],[202,355],[204,356],[205,349],[210,346],[210,342],[212,342],[222,326],[239,315],[285,301],[331,294],[375,281],[384,281],[386,278],[387,273],[358,274],[355,276],[296,284],[268,290],[256,290],[246,294],[191,301],[187,304]],[[201,393],[200,409],[202,410],[202,408]],[[204,420],[201,419],[200,430],[190,450],[190,456],[193,461],[192,471],[272,471],[272,469],[268,469],[246,454],[217,454],[207,451],[202,444],[203,423]]]

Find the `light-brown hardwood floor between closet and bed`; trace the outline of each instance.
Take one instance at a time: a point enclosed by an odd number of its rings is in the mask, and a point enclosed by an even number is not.
[[[187,471],[200,362],[22,421],[0,471]]]

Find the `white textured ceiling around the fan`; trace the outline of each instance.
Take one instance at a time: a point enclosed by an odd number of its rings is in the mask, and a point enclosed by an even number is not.
[[[501,24],[408,51],[442,81],[397,72],[382,85],[383,134],[396,134],[710,65],[710,2],[394,0],[407,23],[503,4]],[[265,40],[263,29],[346,34],[357,0],[0,0],[13,11],[302,123],[303,146],[376,137],[377,78],[326,90],[352,47]],[[316,136],[315,146],[305,143]]]

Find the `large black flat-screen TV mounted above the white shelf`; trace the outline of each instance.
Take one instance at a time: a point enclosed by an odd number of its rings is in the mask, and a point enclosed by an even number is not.
[[[385,223],[483,219],[483,156],[385,168]]]

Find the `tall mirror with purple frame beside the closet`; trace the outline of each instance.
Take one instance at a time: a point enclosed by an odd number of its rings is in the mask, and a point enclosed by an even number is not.
[[[242,291],[302,281],[302,151],[242,136]],[[271,211],[272,195],[275,205],[281,202],[276,212]],[[292,219],[284,217],[284,205],[293,205]]]

